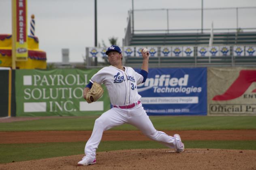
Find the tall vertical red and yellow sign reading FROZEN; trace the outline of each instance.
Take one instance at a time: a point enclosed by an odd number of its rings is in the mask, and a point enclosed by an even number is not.
[[[27,1],[12,0],[13,49],[16,61],[28,60]]]

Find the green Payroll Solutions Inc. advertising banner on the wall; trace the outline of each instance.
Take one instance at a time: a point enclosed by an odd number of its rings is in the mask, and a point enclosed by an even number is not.
[[[98,101],[88,104],[83,99],[84,87],[98,70],[16,70],[16,115],[102,114],[110,108],[105,86]]]

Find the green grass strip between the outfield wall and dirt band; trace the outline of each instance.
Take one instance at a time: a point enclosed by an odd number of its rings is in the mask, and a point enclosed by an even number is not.
[[[0,123],[0,131],[92,130],[98,116]],[[256,129],[256,116],[150,116],[158,130]],[[124,124],[111,130],[137,130]]]

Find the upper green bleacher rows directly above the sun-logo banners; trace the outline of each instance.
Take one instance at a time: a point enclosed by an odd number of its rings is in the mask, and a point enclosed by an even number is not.
[[[208,45],[208,33],[134,34],[129,46]],[[214,33],[213,45],[256,44],[256,32]]]

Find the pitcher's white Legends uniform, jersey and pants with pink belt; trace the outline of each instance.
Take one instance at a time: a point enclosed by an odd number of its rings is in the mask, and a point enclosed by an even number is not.
[[[92,136],[85,145],[85,155],[95,158],[103,132],[124,123],[139,128],[143,134],[154,141],[169,148],[176,148],[175,137],[157,131],[139,101],[141,96],[138,94],[137,84],[143,82],[141,74],[131,67],[125,67],[125,71],[123,71],[109,66],[94,74],[90,82],[105,84],[113,108],[96,119]]]

